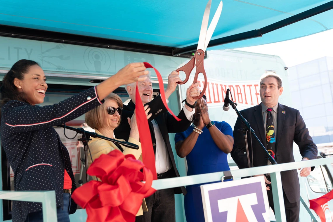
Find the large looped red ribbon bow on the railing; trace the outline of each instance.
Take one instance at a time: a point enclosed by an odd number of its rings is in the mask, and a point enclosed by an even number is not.
[[[72,195],[77,204],[86,208],[87,222],[134,222],[143,198],[156,191],[151,187],[152,172],[133,155],[124,156],[119,150],[95,159],[88,174],[102,182],[89,181]]]

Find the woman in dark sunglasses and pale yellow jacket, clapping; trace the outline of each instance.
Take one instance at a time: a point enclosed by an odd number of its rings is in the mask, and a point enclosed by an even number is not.
[[[123,102],[121,98],[114,93],[110,93],[104,99],[104,101],[105,101],[104,104],[86,113],[85,121],[89,127],[95,129],[96,133],[112,139],[116,139],[113,131],[120,124],[121,114],[123,111]],[[150,111],[148,105],[145,106],[145,110],[146,110],[147,119],[149,119],[152,116],[152,113],[148,115],[148,112]],[[94,161],[102,154],[107,154],[115,149],[122,151],[124,155],[132,154],[135,156],[136,159],[140,159],[142,161],[141,143],[139,142],[139,130],[137,126],[135,113],[133,114],[131,119],[128,118],[128,122],[131,126],[130,138],[128,139],[128,142],[139,145],[139,149],[131,149],[122,146],[118,143],[114,143],[101,138],[92,138],[92,140],[89,142],[89,148],[92,155],[91,158],[90,153],[88,154],[89,165],[92,163],[91,159],[93,159]],[[125,141],[123,139],[117,139],[117,140]],[[96,177],[93,177],[93,179],[99,180]],[[142,214],[143,210],[142,207],[140,207],[137,216]]]

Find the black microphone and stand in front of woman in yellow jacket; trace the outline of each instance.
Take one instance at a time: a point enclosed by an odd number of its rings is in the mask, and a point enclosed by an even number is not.
[[[83,146],[84,146],[84,158],[85,158],[85,164],[86,164],[86,179],[87,179],[87,182],[89,182],[89,176],[88,176],[88,167],[89,167],[88,166],[89,165],[88,164],[88,150],[90,152],[90,149],[89,149],[88,141],[91,140],[90,137],[105,139],[105,140],[108,140],[108,141],[111,141],[111,142],[114,142],[114,143],[122,144],[123,146],[129,147],[129,148],[132,148],[132,149],[139,149],[139,146],[136,145],[136,144],[134,144],[134,143],[130,143],[130,142],[126,142],[126,141],[119,141],[119,140],[116,140],[116,139],[111,139],[109,137],[105,137],[105,136],[99,135],[96,132],[86,131],[83,128],[74,128],[74,127],[71,127],[71,126],[63,125],[63,124],[60,124],[60,125],[57,125],[57,126],[65,128],[65,129],[70,129],[70,130],[73,130],[73,131],[75,131],[77,133],[82,134],[82,138],[78,139],[78,140],[82,141]],[[90,155],[90,157],[91,157],[91,155]]]

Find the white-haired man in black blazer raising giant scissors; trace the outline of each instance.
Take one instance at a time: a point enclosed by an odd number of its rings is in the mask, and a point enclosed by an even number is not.
[[[177,82],[181,82],[181,80],[178,73],[173,71],[168,76],[168,85],[165,90],[166,100],[175,91]],[[168,133],[185,131],[191,124],[195,112],[194,106],[196,102],[193,97],[197,97],[200,94],[198,85],[198,83],[192,84],[187,89],[185,105],[177,116],[181,119],[181,121],[177,121],[169,112],[167,112],[166,107],[163,105],[161,96],[152,100],[153,87],[150,77],[146,78],[145,81],[138,82],[138,91],[142,103],[144,106],[148,105],[150,109],[149,113],[153,114],[148,119],[148,122],[155,153],[155,164],[158,179],[179,176]],[[134,113],[136,103],[136,84],[127,85],[126,90],[131,98],[131,101],[127,106],[124,105],[121,124],[114,130],[114,132],[117,138],[125,139],[127,141],[131,131],[127,118],[131,118]],[[185,195],[185,187],[158,190],[152,196],[145,198],[148,212],[144,212],[144,215],[142,216],[137,216],[136,222],[175,222],[175,193],[182,193]]]

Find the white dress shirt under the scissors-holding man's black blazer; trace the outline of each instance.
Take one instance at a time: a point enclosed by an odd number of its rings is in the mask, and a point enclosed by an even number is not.
[[[166,100],[166,102],[168,101]],[[190,112],[185,107],[183,107],[183,111],[188,121],[192,121],[195,109],[193,109]],[[156,172],[157,174],[165,173],[171,169],[170,158],[159,125],[157,124],[155,119],[152,120],[152,123],[154,126],[154,133],[156,138],[156,153],[155,153]]]

